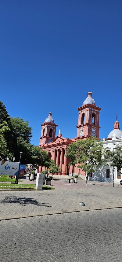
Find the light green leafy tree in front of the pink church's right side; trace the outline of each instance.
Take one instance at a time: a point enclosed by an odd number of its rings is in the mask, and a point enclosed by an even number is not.
[[[66,157],[70,158],[69,165],[78,164],[77,167],[87,173],[86,180],[88,180],[88,176],[103,164],[102,156],[105,153],[103,142],[99,142],[96,137],[89,136],[89,138],[79,139],[70,144],[67,147]]]

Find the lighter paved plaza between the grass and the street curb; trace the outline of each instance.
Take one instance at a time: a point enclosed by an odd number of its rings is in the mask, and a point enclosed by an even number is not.
[[[53,184],[53,183],[52,183]],[[45,191],[0,192],[0,220],[122,207],[122,188],[89,185]],[[82,201],[84,207],[78,206]]]

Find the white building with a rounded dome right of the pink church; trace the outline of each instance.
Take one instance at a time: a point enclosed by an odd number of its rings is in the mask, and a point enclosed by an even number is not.
[[[122,131],[119,127],[119,122],[116,120],[114,123],[113,130],[109,133],[107,138],[102,139],[104,143],[104,147],[107,151],[115,150],[115,144],[122,146]],[[122,168],[119,172],[110,166],[100,166],[97,171],[92,174],[92,177],[89,177],[89,180],[92,181],[102,181],[102,182],[113,182],[113,175],[114,175],[114,183],[120,183],[122,180]]]

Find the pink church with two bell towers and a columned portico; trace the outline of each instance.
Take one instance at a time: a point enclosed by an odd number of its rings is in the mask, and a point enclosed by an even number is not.
[[[101,108],[96,106],[91,92],[88,92],[88,97],[84,100],[83,105],[77,110],[79,114],[76,138],[64,138],[62,134],[56,136],[57,125],[54,123],[52,113],[49,113],[45,122],[41,124],[42,128],[39,147],[46,150],[49,159],[55,160],[56,164],[60,166],[61,171],[59,172],[59,175],[81,174],[85,176],[85,173],[77,168],[77,165],[68,165],[70,159],[65,157],[67,146],[76,142],[77,139],[85,139],[89,137],[89,135],[94,137],[97,136],[99,138],[99,112]],[[41,168],[42,167],[40,167],[40,170]]]

